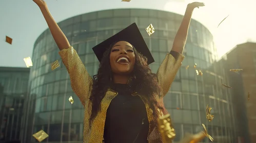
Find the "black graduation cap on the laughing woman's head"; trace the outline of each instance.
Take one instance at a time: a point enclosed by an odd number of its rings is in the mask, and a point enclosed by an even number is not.
[[[154,62],[154,58],[152,57],[148,49],[148,46],[144,41],[136,23],[132,23],[130,26],[123,29],[119,33],[116,33],[114,36],[94,46],[92,50],[95,53],[98,60],[101,61],[104,52],[109,48],[110,44],[118,41],[126,41],[132,44],[135,47],[136,51],[140,52],[143,56],[147,57],[148,64]]]

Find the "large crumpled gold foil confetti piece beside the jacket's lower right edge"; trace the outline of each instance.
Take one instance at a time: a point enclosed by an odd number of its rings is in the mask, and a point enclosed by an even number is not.
[[[159,125],[158,127],[163,138],[163,142],[171,142],[176,134],[175,130],[171,127],[170,114],[159,117],[157,123]]]

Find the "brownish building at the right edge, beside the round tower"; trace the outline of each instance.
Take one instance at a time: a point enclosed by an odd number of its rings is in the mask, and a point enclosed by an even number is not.
[[[234,47],[219,61],[228,72],[234,110],[238,122],[238,136],[242,142],[256,142],[256,43],[243,43]],[[243,69],[238,73],[229,69]],[[248,92],[250,97],[248,97]],[[248,99],[249,98],[249,99]]]

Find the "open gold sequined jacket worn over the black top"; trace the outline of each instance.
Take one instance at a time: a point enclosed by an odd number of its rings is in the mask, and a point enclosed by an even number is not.
[[[92,122],[92,127],[89,129],[89,117],[91,115],[92,103],[89,100],[91,89],[92,89],[92,78],[88,74],[83,62],[77,55],[76,51],[70,46],[68,49],[61,50],[59,52],[62,57],[62,61],[66,66],[70,81],[71,87],[75,94],[78,96],[82,102],[85,111],[84,111],[84,143],[102,143],[104,135],[104,125],[106,120],[107,108],[111,100],[117,95],[117,92],[112,89],[108,89],[105,97],[101,102],[101,111],[97,113],[95,120]],[[179,54],[174,58],[171,54],[167,54],[164,61],[160,65],[157,76],[159,84],[162,87],[162,93],[165,95],[173,82],[176,73],[181,67],[181,62],[184,59],[184,56]],[[133,94],[134,96],[140,96],[137,93]],[[148,142],[149,143],[160,143],[162,137],[159,133],[159,130],[152,123],[153,115],[152,110],[149,108],[147,99],[140,96],[143,102],[145,103],[148,121],[149,121],[149,133],[148,133]],[[159,100],[160,105],[164,105],[163,98]],[[157,113],[159,116],[163,116],[167,110],[159,109]]]

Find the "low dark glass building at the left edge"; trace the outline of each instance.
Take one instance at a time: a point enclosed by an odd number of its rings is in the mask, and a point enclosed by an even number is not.
[[[0,142],[20,138],[29,70],[0,67]]]

